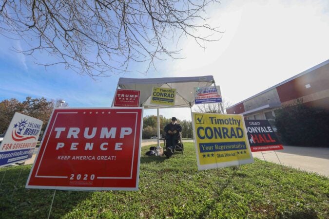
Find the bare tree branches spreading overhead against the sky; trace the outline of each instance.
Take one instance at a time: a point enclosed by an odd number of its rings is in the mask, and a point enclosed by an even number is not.
[[[0,0],[0,33],[24,41],[24,55],[49,54],[44,66],[64,65],[80,74],[110,76],[134,63],[179,57],[181,37],[220,39],[207,24],[216,0]],[[174,43],[171,43],[174,41]]]

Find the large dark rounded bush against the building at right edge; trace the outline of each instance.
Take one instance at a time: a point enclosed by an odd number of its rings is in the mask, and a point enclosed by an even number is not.
[[[299,101],[278,110],[276,128],[286,145],[329,147],[329,111]]]

